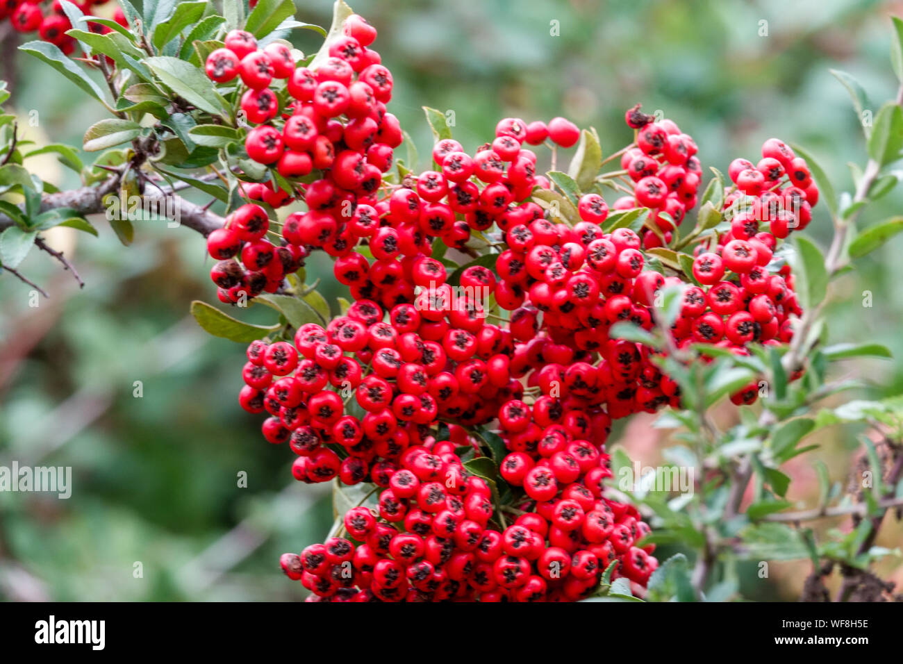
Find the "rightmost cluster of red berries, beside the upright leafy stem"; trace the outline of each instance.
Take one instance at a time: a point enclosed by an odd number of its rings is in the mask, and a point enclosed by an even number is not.
[[[758,164],[735,159],[728,173],[735,187],[723,208],[731,228],[694,249],[693,275],[701,287],[684,291],[672,332],[678,343],[703,341],[749,354],[749,343],[793,338],[790,315],[803,313],[795,279],[789,265],[776,267],[773,258],[778,240],[812,220],[818,188],[805,159],[777,138],[762,145]],[[758,396],[754,382],[731,400],[751,404]]]

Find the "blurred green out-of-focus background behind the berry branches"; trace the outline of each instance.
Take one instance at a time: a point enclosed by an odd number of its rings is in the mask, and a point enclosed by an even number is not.
[[[107,11],[111,11],[107,5]],[[832,68],[868,91],[877,111],[894,94],[889,15],[903,3],[870,0],[449,0],[353,2],[377,26],[375,44],[395,77],[390,110],[428,154],[422,105],[455,112],[453,132],[472,149],[501,117],[571,117],[595,126],[606,154],[626,144],[623,113],[643,102],[661,109],[700,146],[703,166],[726,171],[735,156],[754,161],[762,141],[804,145],[835,188],[849,190],[848,162],[864,162],[859,118]],[[328,26],[330,2],[309,0],[297,17]],[[557,23],[554,23],[557,22]],[[557,27],[558,34],[554,35]],[[315,50],[319,37],[299,31]],[[42,145],[80,145],[103,109],[61,75],[2,41],[2,76]],[[34,115],[37,111],[37,115]],[[30,115],[31,114],[31,115]],[[37,117],[30,126],[29,117]],[[399,148],[404,156],[405,148]],[[29,164],[45,180],[77,186],[53,158]],[[421,160],[424,165],[424,160]],[[903,194],[876,205],[865,225],[897,213]],[[807,233],[831,235],[824,206]],[[124,248],[103,223],[99,238],[66,229],[51,238],[86,282],[79,290],[46,255],[23,271],[51,294],[29,307],[28,289],[0,278],[0,464],[72,466],[69,500],[0,493],[0,598],[57,600],[299,599],[277,559],[320,540],[332,520],[329,490],[299,486],[291,454],[266,444],[259,421],[237,407],[244,348],[207,336],[188,313],[215,301],[199,236],[144,222]],[[832,341],[879,341],[903,357],[903,237],[889,242],[832,288]],[[330,300],[338,291],[322,262]],[[862,306],[863,291],[873,306]],[[257,307],[260,309],[262,307]],[[248,316],[265,318],[252,308]],[[859,361],[842,371],[869,379],[858,397],[903,388],[899,361]],[[143,396],[135,397],[135,381]],[[731,413],[720,415],[725,422]],[[644,462],[666,439],[648,420],[622,424],[612,440]],[[826,429],[816,442],[834,480],[844,482],[853,436]],[[797,458],[792,500],[817,491],[809,460]],[[237,473],[247,472],[247,488]],[[825,523],[844,528],[842,521]],[[894,547],[899,530],[879,544]],[[667,553],[667,552],[663,552]],[[135,563],[143,576],[135,578]],[[881,569],[903,582],[899,558]],[[794,600],[807,565],[754,568],[743,594]]]

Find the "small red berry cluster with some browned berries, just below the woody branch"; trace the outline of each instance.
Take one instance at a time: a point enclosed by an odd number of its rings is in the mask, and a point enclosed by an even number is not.
[[[237,304],[243,295],[250,299],[275,293],[286,275],[303,266],[306,249],[273,244],[266,239],[269,228],[266,211],[247,203],[228,215],[221,229],[209,234],[207,250],[218,260],[210,269],[210,278],[218,286],[220,302]],[[241,263],[236,257],[241,257]]]

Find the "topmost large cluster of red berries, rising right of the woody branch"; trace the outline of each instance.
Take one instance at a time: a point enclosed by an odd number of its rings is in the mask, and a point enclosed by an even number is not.
[[[403,140],[398,120],[386,112],[392,74],[379,53],[368,48],[377,31],[357,14],[345,22],[344,31],[316,70],[296,67],[283,43],[261,50],[253,35],[240,30],[228,33],[224,48],[210,53],[205,65],[210,79],[240,79],[246,90],[241,111],[253,127],[245,139],[248,156],[293,181],[291,192],[272,182],[251,184],[247,198],[273,207],[302,198],[311,214],[331,220],[303,224],[316,231],[303,239],[321,246],[349,244],[341,229],[351,210],[377,201],[382,174]],[[280,108],[283,87],[289,101]],[[298,182],[312,173],[318,174],[313,182]]]

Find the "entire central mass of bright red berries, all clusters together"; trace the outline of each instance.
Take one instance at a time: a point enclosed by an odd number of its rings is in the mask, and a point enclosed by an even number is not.
[[[247,198],[307,207],[284,220],[283,246],[265,239],[269,221],[254,204],[210,235],[220,299],[274,292],[322,249],[354,300],[325,328],[303,325],[291,339],[247,349],[239,402],[268,415],[264,437],[289,444],[294,477],[380,490],[377,513],[345,515],[349,538],[285,554],[284,571],[317,601],[573,601],[617,561],[614,575],[642,594],[654,547],[636,546],[649,530],[638,511],[604,493],[605,441],[612,419],[678,407],[680,393],[654,361],[662,351],[613,339],[610,327],[651,330],[657,296],[681,285],[676,347],[707,342],[748,354],[752,343],[789,341],[789,316],[800,309],[776,250],[805,227],[818,198],[805,161],[769,139],[759,164],[731,164],[730,229],[696,243],[698,285],[689,285],[689,276],[656,271],[647,253],[671,243],[702,179],[694,139],[674,122],[638,106],[626,115],[636,142],[619,153],[614,176],[628,195],[611,209],[650,210],[642,235],[603,230],[610,208],[596,192],[577,201],[573,225],[533,200],[552,184],[535,172],[529,146],[580,138],[562,117],[547,125],[506,118],[472,155],[443,139],[433,170],[389,184],[382,174],[402,132],[386,112],[392,79],[368,48],[375,38],[352,16],[330,57],[310,70],[296,68],[283,45],[261,51],[233,31],[206,63],[218,82],[240,77],[254,125],[247,154],[291,182],[291,192],[250,185]],[[274,79],[286,79],[284,107]],[[466,250],[475,231],[506,248],[494,269],[466,267],[452,284],[433,239]],[[490,302],[510,312],[495,316],[498,324],[489,322]],[[757,396],[750,385],[731,398]],[[437,438],[440,421],[456,423],[448,440]],[[485,454],[464,427],[488,423],[507,447],[498,487],[504,509],[519,515],[509,527],[498,494],[456,454]]]

